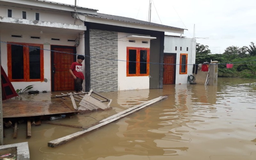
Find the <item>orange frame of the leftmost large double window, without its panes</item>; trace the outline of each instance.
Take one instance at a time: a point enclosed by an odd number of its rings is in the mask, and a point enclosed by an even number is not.
[[[15,43],[8,42],[7,44],[7,67],[8,67],[8,77],[11,82],[34,82],[34,81],[44,81],[44,52],[43,44],[28,44],[28,43]],[[23,46],[23,79],[12,79],[12,44],[18,44]],[[30,79],[29,78],[29,47],[35,46],[40,47],[40,79]]]

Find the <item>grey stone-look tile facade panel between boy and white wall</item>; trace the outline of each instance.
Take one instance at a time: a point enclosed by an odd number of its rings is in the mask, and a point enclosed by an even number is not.
[[[117,38],[117,32],[90,29],[91,89],[94,91],[118,90]]]

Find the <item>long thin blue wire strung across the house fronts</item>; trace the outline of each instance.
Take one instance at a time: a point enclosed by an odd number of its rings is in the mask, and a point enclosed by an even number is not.
[[[111,59],[111,58],[103,58],[103,57],[96,57],[96,56],[87,56],[87,55],[76,54],[76,53],[68,53],[68,52],[60,52],[60,51],[48,50],[48,49],[37,48],[37,47],[33,47],[33,46],[26,46],[26,45],[21,45],[21,44],[14,44],[14,43],[9,43],[9,42],[4,42],[4,41],[0,41],[0,43],[18,45],[18,46],[23,46],[23,47],[28,47],[28,48],[36,48],[36,49],[45,50],[45,51],[51,51],[51,52],[59,52],[59,53],[65,53],[65,54],[81,55],[81,56],[84,56],[84,57],[98,58],[98,59],[104,59],[104,60],[124,61],[124,62],[134,62],[134,63],[147,63],[147,64],[163,64],[163,65],[198,65],[198,64],[170,64],[170,63],[153,63],[153,62],[140,62],[140,61],[129,61],[129,60],[117,60],[117,59]],[[211,64],[212,64],[212,65],[216,65],[216,64],[218,64],[218,65],[225,65],[225,64],[242,63],[242,62],[250,62],[250,61],[256,61],[256,60],[246,60],[246,61],[232,62],[232,63],[211,63]],[[252,65],[252,64],[236,64],[236,65]],[[253,65],[254,65],[254,64],[253,64]]]

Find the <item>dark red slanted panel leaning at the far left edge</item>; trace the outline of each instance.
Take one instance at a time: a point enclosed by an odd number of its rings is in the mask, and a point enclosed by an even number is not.
[[[12,97],[18,96],[17,92],[14,90],[12,83],[7,77],[4,69],[1,66],[1,85],[2,85],[2,100],[7,100]]]

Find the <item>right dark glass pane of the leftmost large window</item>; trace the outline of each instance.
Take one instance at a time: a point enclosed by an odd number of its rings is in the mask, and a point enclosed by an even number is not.
[[[29,46],[29,79],[40,79],[40,47]]]

